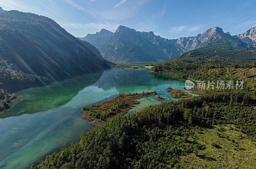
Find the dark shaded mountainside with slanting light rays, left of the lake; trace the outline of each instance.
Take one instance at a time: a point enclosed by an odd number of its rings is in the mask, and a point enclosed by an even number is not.
[[[52,82],[106,66],[90,43],[72,36],[50,18],[20,11],[0,13],[0,60],[5,68],[12,69],[14,64],[18,72]]]

